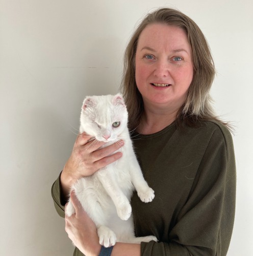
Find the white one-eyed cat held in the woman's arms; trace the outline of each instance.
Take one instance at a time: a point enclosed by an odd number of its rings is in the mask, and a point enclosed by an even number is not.
[[[98,141],[124,141],[119,151],[123,156],[116,162],[81,178],[72,186],[83,208],[97,227],[99,243],[110,247],[118,242],[140,243],[157,241],[154,236],[135,237],[131,195],[134,189],[142,202],[151,202],[154,190],[142,176],[128,131],[128,112],[120,94],[115,96],[90,96],[83,102],[80,133],[86,132]],[[140,201],[140,203],[142,203]],[[66,215],[74,208],[69,201]]]

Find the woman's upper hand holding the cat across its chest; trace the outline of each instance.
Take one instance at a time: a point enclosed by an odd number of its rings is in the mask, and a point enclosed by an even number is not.
[[[67,197],[70,187],[75,181],[81,177],[94,174],[98,169],[118,160],[122,156],[121,152],[112,153],[123,145],[123,141],[118,141],[99,149],[106,142],[95,139],[89,141],[90,139],[90,135],[82,133],[75,140],[72,153],[61,174],[64,197]]]

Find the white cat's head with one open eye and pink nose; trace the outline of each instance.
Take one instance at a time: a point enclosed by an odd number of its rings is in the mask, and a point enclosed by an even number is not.
[[[86,132],[104,142],[120,140],[128,125],[128,112],[122,95],[86,97],[80,120],[81,133]]]

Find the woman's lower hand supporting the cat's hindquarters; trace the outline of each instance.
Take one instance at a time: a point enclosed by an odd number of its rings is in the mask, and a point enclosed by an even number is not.
[[[71,191],[71,202],[75,214],[65,216],[65,230],[73,244],[85,255],[98,255],[101,250],[94,222],[86,214],[81,203]]]

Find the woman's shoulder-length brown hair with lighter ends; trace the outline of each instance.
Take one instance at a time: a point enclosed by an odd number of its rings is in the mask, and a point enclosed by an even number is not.
[[[196,23],[182,12],[161,8],[145,16],[133,33],[124,54],[124,70],[121,91],[129,111],[129,127],[135,129],[143,113],[143,100],[135,81],[135,55],[139,36],[143,29],[154,23],[178,26],[188,37],[192,50],[193,79],[185,103],[176,117],[176,124],[196,126],[197,120],[220,121],[213,112],[210,88],[215,76],[214,62],[204,34]],[[223,122],[222,122],[223,123]]]

